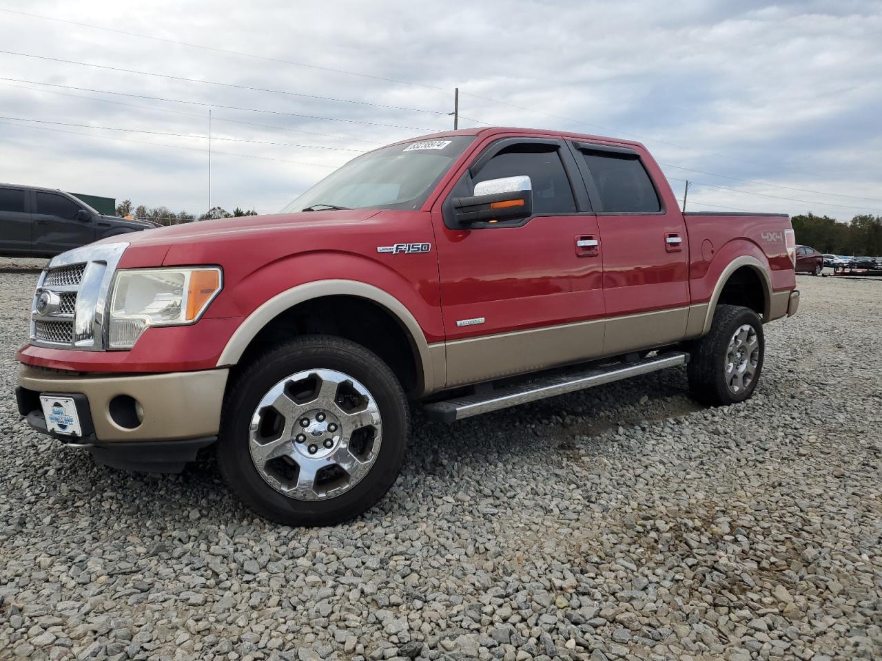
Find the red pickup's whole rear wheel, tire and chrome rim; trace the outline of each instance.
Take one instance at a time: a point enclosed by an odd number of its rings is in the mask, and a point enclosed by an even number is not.
[[[763,368],[766,341],[756,312],[719,305],[689,361],[689,390],[702,404],[725,406],[751,397]]]

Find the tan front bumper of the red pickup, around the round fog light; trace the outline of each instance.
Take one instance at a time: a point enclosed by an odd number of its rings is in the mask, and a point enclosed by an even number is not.
[[[101,442],[164,441],[218,433],[228,371],[78,376],[48,373],[22,365],[19,384],[40,393],[86,395],[95,436]],[[138,427],[120,427],[110,418],[108,406],[117,395],[129,395],[141,404],[144,420]]]

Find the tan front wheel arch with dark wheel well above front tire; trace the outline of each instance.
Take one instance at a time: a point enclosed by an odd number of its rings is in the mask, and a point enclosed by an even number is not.
[[[415,397],[434,388],[432,352],[415,317],[392,294],[351,280],[311,282],[265,301],[236,329],[217,366],[246,362],[267,342],[304,334],[333,335],[365,346]]]

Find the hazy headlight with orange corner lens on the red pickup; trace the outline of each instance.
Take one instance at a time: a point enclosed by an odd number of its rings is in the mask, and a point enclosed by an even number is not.
[[[131,349],[150,326],[198,321],[221,291],[216,266],[117,271],[110,299],[108,346]]]

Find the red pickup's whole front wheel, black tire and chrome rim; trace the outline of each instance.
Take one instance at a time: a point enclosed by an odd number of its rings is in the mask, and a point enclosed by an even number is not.
[[[374,353],[341,338],[297,338],[253,360],[231,384],[218,461],[258,515],[338,524],[392,486],[408,428],[407,398]]]

